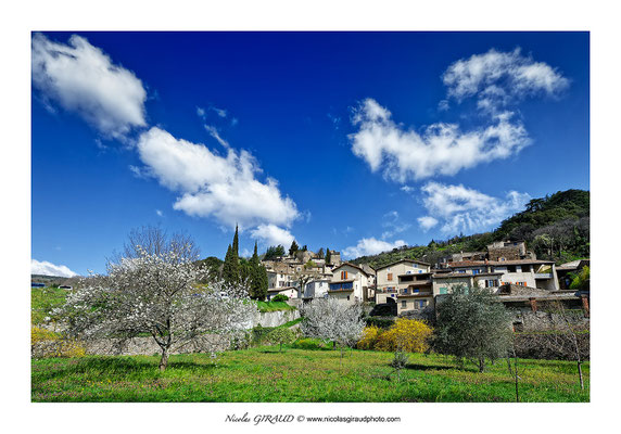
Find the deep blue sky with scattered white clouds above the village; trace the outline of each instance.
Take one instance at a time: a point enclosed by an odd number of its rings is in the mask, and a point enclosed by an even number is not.
[[[590,189],[586,33],[33,35],[34,269],[129,230],[346,257]],[[61,266],[66,268],[59,269]]]

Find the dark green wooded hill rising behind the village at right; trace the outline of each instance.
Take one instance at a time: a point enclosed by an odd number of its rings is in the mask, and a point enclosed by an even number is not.
[[[360,256],[353,264],[379,268],[409,258],[435,264],[439,258],[459,252],[483,252],[493,241],[523,240],[540,259],[566,263],[590,257],[591,194],[584,190],[559,191],[531,200],[525,209],[504,220],[491,232],[431,240],[428,245],[403,246],[372,256]]]

